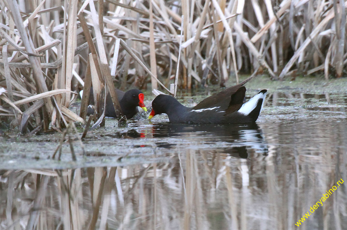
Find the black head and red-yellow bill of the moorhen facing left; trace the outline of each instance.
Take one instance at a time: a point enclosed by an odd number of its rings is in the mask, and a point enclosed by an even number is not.
[[[166,94],[159,94],[152,101],[152,112],[149,119],[152,119],[157,114],[168,113],[169,109],[175,107],[176,104],[180,104],[173,96]]]

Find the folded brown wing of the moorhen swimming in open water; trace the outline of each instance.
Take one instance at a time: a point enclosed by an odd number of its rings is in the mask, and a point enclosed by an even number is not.
[[[234,108],[234,105],[243,104],[243,99],[245,98],[246,88],[242,86],[246,82],[242,82],[238,85],[231,86],[217,94],[205,98],[200,103],[198,103],[193,109],[204,109],[212,107],[220,107],[220,110],[227,110],[229,107]],[[234,109],[232,109],[234,110]],[[236,110],[236,109],[235,109]]]

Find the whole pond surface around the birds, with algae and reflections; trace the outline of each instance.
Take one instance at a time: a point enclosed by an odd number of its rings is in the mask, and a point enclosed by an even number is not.
[[[242,126],[107,120],[77,162],[67,143],[51,158],[60,135],[3,138],[0,228],[346,229],[346,101],[273,93]]]

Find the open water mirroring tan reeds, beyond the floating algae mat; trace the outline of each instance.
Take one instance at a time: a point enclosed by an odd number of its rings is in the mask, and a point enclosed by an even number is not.
[[[153,138],[155,151],[170,150],[167,162],[2,171],[1,228],[343,229],[345,185],[294,224],[347,179],[345,127],[346,119],[139,127],[126,135]]]

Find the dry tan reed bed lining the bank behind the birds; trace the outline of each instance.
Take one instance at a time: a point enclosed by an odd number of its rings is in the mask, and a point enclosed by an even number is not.
[[[176,94],[238,74],[274,80],[346,75],[344,0],[0,2],[0,116],[18,132],[85,122],[93,86],[95,123],[104,125],[114,87]],[[69,105],[84,90],[81,113]]]

